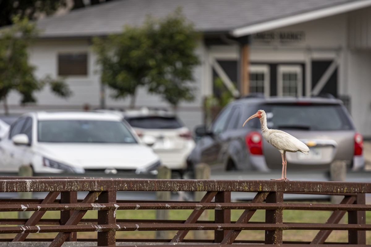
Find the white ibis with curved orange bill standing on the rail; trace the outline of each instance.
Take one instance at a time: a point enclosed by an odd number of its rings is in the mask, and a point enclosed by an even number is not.
[[[260,119],[260,128],[262,129],[262,134],[264,139],[272,144],[273,147],[277,148],[282,157],[282,176],[278,179],[272,179],[272,180],[288,180],[286,178],[286,152],[292,152],[295,153],[297,151],[308,154],[309,147],[306,146],[303,142],[299,141],[292,135],[286,133],[282,130],[270,130],[267,127],[267,115],[265,114],[264,110],[257,111],[254,115],[249,117],[244,123],[243,126],[249,121],[250,119],[253,119],[254,117],[257,117]]]

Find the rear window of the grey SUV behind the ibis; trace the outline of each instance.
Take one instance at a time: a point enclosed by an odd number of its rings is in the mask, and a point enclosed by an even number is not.
[[[338,104],[265,104],[267,127],[296,130],[352,130],[351,121]],[[259,110],[257,109],[257,110]],[[259,128],[260,122],[254,121]]]

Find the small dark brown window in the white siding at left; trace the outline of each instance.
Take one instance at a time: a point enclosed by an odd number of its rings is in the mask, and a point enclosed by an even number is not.
[[[87,76],[88,53],[60,53],[58,54],[59,76]]]

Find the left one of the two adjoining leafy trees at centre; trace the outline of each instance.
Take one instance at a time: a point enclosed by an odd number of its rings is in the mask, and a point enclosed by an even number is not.
[[[151,49],[152,42],[145,30],[136,27],[126,26],[122,34],[111,35],[108,39],[93,39],[93,50],[102,67],[101,82],[113,89],[114,99],[131,96],[131,108],[135,105],[138,87],[146,84],[155,67]]]

